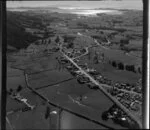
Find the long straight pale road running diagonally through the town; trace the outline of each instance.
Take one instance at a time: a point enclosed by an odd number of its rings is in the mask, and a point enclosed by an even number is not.
[[[84,74],[86,77],[90,79],[91,82],[93,82],[95,85],[99,86],[99,89],[116,105],[118,105],[131,119],[136,121],[140,128],[142,128],[141,122],[137,119],[135,115],[133,115],[126,107],[124,107],[117,99],[112,97],[103,87],[102,84],[98,83],[93,77],[91,77],[87,72],[85,72],[81,67],[79,67],[70,57],[68,57],[66,54],[62,51],[62,44],[60,46],[60,52],[63,54],[63,56],[69,60],[76,68],[79,69],[79,71]]]

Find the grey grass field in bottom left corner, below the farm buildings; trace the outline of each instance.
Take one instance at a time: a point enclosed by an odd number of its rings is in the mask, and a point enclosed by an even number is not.
[[[17,112],[8,116],[14,129],[50,129],[50,120],[45,119],[45,106],[38,106],[32,111]]]

